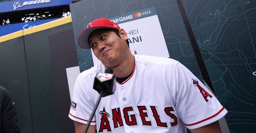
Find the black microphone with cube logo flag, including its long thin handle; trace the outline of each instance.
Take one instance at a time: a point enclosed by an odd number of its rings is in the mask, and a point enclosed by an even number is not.
[[[99,98],[93,108],[93,112],[90,115],[90,118],[86,124],[86,127],[84,128],[83,133],[87,132],[90,126],[90,122],[92,121],[96,109],[99,106],[101,97],[112,95],[116,91],[116,76],[113,74],[112,68],[107,68],[105,70],[105,73],[98,73],[95,76],[93,82],[93,89],[99,93]]]

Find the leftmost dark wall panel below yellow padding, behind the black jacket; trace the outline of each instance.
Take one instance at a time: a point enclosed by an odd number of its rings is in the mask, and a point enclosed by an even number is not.
[[[21,133],[33,133],[23,36],[8,37],[10,40],[0,42],[0,85],[15,102]]]

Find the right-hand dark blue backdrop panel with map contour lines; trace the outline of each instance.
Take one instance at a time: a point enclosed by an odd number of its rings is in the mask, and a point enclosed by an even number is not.
[[[256,130],[256,1],[183,0],[230,133]]]

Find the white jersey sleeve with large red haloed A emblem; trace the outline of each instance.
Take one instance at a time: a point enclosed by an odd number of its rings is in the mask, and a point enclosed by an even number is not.
[[[175,66],[172,86],[177,115],[188,129],[208,125],[227,113],[211,91],[180,62]]]

